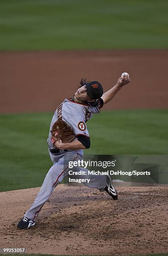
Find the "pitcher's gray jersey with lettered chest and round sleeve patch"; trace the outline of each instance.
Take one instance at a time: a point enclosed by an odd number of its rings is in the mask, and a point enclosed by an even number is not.
[[[62,104],[59,105],[55,111],[52,122],[50,125],[50,130],[52,125],[57,121],[58,118],[62,118],[74,131],[77,136],[83,135],[89,137],[89,132],[86,127],[86,121],[92,118],[93,114],[99,113],[98,107],[92,107],[89,104],[82,104],[74,102],[72,99],[65,99]],[[77,138],[76,138],[77,139]],[[49,132],[49,146],[53,147],[51,142],[51,133]],[[69,150],[74,151],[74,150]],[[79,154],[83,154],[83,150],[78,150]]]

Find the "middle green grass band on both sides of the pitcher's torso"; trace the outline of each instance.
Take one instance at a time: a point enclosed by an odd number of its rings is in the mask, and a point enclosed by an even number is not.
[[[52,166],[51,119],[52,113],[0,115],[0,191],[41,186]],[[91,148],[84,154],[168,154],[168,110],[102,111],[87,128]]]

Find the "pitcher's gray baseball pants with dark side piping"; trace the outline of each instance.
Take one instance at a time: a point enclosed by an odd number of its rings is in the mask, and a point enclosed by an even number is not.
[[[49,197],[52,195],[52,192],[55,187],[62,181],[62,179],[68,175],[69,170],[73,172],[79,172],[80,170],[88,172],[87,169],[81,168],[79,166],[73,166],[73,168],[69,169],[69,161],[78,161],[82,160],[82,155],[79,153],[72,151],[67,152],[66,154],[61,155],[53,155],[49,152],[51,160],[53,161],[53,166],[49,169],[42,187],[40,188],[35,201],[33,202],[30,209],[25,213],[25,217],[36,220],[40,210]],[[89,183],[83,183],[87,187],[96,188],[96,189],[104,189],[106,187],[106,176],[105,175],[78,175],[79,179],[90,179]]]

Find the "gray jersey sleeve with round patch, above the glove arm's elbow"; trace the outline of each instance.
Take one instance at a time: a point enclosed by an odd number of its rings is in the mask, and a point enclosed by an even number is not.
[[[74,115],[67,120],[67,124],[73,129],[76,136],[83,135],[89,137],[85,120],[80,119],[79,115]]]

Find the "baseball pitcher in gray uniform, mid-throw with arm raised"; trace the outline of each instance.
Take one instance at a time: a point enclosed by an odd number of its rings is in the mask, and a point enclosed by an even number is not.
[[[25,229],[35,225],[40,210],[52,195],[55,187],[68,175],[69,170],[79,172],[82,168],[73,166],[69,169],[69,161],[78,161],[83,158],[83,150],[90,147],[89,131],[86,122],[93,114],[99,113],[104,104],[112,100],[121,88],[130,82],[128,74],[121,76],[116,85],[103,93],[101,83],[87,82],[81,79],[80,87],[72,98],[66,98],[55,111],[47,140],[49,155],[53,162],[42,187],[32,206],[17,224],[17,228]],[[88,172],[87,169],[84,169]],[[79,177],[79,176],[78,176]],[[107,192],[114,200],[118,199],[117,191],[109,175],[89,175],[89,183],[84,184]],[[87,174],[81,179],[87,179]]]

